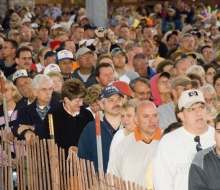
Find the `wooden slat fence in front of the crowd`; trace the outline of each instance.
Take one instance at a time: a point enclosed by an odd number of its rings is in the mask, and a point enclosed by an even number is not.
[[[4,134],[4,131],[1,131]],[[59,149],[54,140],[32,139],[29,144],[25,141],[15,141],[17,180],[14,181],[17,190],[144,190],[143,187],[130,181],[104,174],[99,170],[95,173],[94,165],[90,161],[79,159],[75,151],[69,152],[65,159],[63,149]],[[1,147],[1,188],[14,189],[11,186],[8,172],[13,165],[7,161],[10,145],[6,135],[2,135]],[[5,151],[5,152],[4,152]],[[6,160],[6,162],[4,162]],[[13,172],[15,178],[16,173]]]

